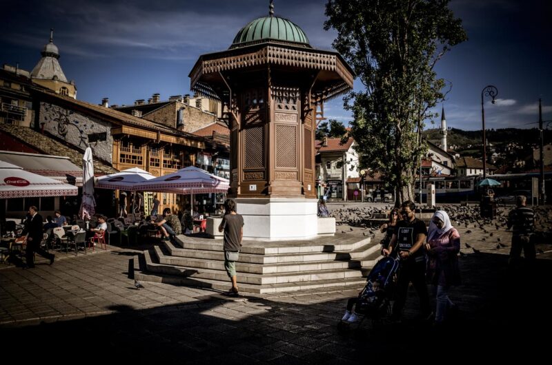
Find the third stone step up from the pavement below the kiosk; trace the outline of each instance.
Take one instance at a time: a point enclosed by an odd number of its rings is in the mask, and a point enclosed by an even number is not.
[[[185,258],[175,255],[170,255],[168,251],[161,247],[154,247],[159,264],[174,265],[186,267],[190,269],[213,269],[224,270],[224,253],[221,253],[215,260],[201,258]],[[242,262],[242,254],[240,260],[236,262],[236,271],[239,273],[290,273],[313,270],[330,270],[330,269],[355,269],[360,267],[358,260],[320,260],[306,262],[282,262],[275,264],[252,264]]]

